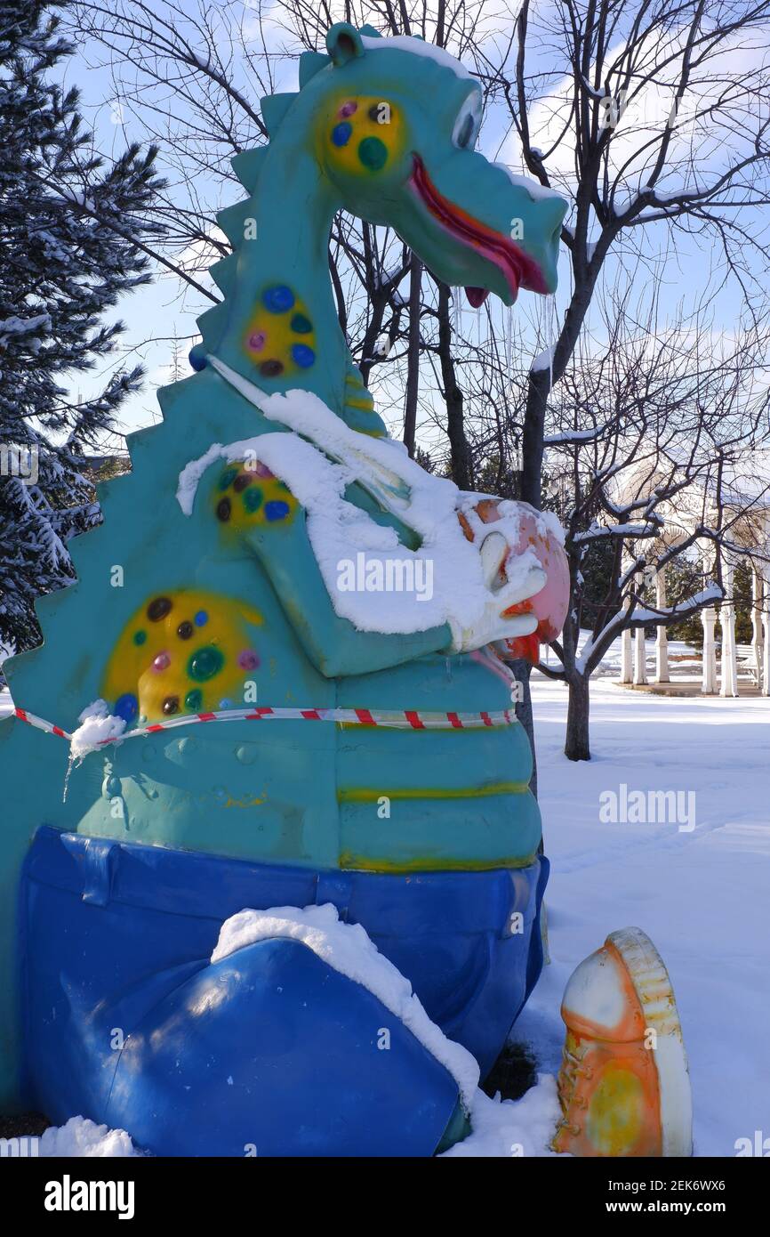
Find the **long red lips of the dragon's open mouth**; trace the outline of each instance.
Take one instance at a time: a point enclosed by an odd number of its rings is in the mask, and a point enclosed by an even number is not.
[[[477,252],[488,259],[489,262],[493,262],[503,272],[514,299],[519,287],[528,288],[530,292],[548,292],[540,267],[523,249],[519,249],[503,233],[494,231],[494,229],[487,228],[478,219],[473,219],[472,215],[468,215],[467,212],[456,207],[454,202],[450,202],[449,198],[439,193],[428,176],[420,156],[413,155],[412,158],[413,167],[409,183],[420,200],[456,240],[477,250]],[[483,304],[488,296],[486,288],[468,287],[465,292],[473,308]]]

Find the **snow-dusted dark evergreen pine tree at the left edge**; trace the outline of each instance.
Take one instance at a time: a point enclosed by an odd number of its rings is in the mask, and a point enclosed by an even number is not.
[[[69,383],[116,348],[104,312],[151,277],[138,239],[162,188],[153,148],[103,160],[78,92],[49,80],[73,51],[52,7],[0,6],[0,646],[19,651],[40,638],[35,597],[73,578],[67,542],[100,520],[87,453],[143,371],[89,400]]]

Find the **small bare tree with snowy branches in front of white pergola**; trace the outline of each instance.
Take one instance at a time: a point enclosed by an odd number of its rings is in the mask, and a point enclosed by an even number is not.
[[[571,596],[552,646],[560,664],[540,669],[569,685],[570,760],[590,760],[590,680],[611,644],[623,631],[672,626],[716,600],[732,601],[723,555],[747,554],[747,526],[770,499],[770,485],[737,484],[768,430],[766,322],[751,319],[737,339],[719,338],[702,313],[661,328],[656,298],[635,323],[630,297],[627,288],[623,301],[609,301],[604,346],[562,376],[545,438]],[[599,548],[609,568],[603,593],[591,595],[586,563]],[[759,536],[748,554],[766,560]],[[650,578],[665,580],[675,563],[690,564],[688,590],[674,605],[650,600]]]

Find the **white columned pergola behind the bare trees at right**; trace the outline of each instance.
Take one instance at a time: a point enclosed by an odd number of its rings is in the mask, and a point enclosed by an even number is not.
[[[627,494],[632,485],[624,486]],[[656,549],[674,547],[692,537],[703,518],[703,491],[688,496],[687,501],[677,501],[676,506],[662,503],[658,513],[664,518],[664,528],[656,539]],[[770,695],[770,501],[748,500],[738,494],[734,507],[723,505],[723,517],[732,518],[730,550],[724,548],[718,553],[722,559],[722,586],[724,600],[701,610],[703,625],[703,667],[701,691],[704,695],[738,695],[738,646],[735,643],[735,606],[733,601],[733,580],[735,567],[742,559],[749,563],[751,570],[751,663],[756,684],[761,695]],[[700,557],[704,581],[714,579],[714,544],[711,539],[695,542],[696,555]],[[764,555],[756,558],[753,555]],[[658,557],[658,554],[655,555]],[[630,557],[627,557],[625,565]],[[655,586],[655,609],[664,607],[666,601],[666,581],[662,573],[655,568],[648,569],[645,583]],[[722,626],[722,653],[719,675],[717,675],[717,620]],[[718,679],[718,688],[717,688]],[[670,683],[669,640],[665,626],[658,625],[655,636],[655,675],[654,683]],[[648,683],[646,637],[644,627],[634,632],[624,631],[620,652],[620,683],[641,685]]]

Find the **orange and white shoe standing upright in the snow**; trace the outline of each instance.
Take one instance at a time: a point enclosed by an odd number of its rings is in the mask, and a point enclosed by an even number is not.
[[[692,1155],[692,1100],[669,972],[639,928],[609,934],[561,1003],[556,1152]]]

